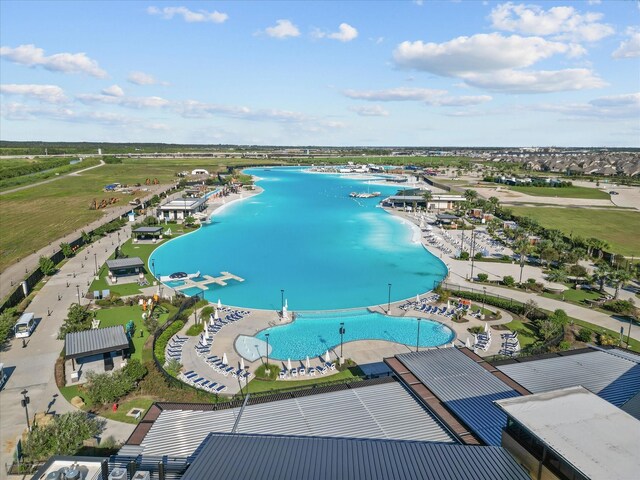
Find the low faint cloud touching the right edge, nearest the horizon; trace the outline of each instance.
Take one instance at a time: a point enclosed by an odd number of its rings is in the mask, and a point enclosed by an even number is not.
[[[588,103],[542,104],[533,108],[571,117],[637,118],[640,116],[640,93],[600,97]]]

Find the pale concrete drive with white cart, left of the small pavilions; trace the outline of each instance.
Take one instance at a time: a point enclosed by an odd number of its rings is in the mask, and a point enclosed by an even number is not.
[[[120,232],[120,239],[130,236],[130,227]],[[54,378],[54,364],[64,346],[57,339],[58,330],[63,323],[69,306],[78,301],[80,294],[87,291],[88,283],[94,273],[94,253],[100,265],[113,253],[117,244],[116,233],[104,237],[95,244],[71,258],[58,273],[51,277],[29,306],[40,323],[33,335],[28,339],[26,348],[22,342],[13,339],[6,351],[0,353],[0,362],[9,372],[9,380],[0,392],[0,441],[1,464],[11,461],[16,439],[25,428],[25,411],[20,406],[20,391],[27,389],[31,404],[31,418],[35,412],[65,413],[73,411],[62,395],[59,394]],[[86,257],[86,260],[85,260]],[[75,278],[74,278],[75,274]],[[67,287],[68,282],[68,287]],[[77,285],[77,287],[76,287]],[[58,295],[61,295],[58,300]],[[85,304],[86,300],[82,300]],[[51,314],[49,315],[49,312]],[[113,435],[116,440],[126,440],[133,431],[134,425],[108,421],[104,437]],[[1,471],[1,470],[0,470]]]

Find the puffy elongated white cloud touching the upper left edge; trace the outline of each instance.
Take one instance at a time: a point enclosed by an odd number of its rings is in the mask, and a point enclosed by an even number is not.
[[[0,57],[29,67],[40,66],[52,72],[84,73],[98,78],[107,76],[107,72],[98,66],[98,62],[87,57],[85,53],[56,53],[46,56],[42,48],[30,44],[16,48],[0,47]]]

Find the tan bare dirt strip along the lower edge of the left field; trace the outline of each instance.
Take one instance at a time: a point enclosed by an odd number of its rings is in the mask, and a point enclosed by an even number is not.
[[[141,200],[146,201],[154,195],[164,192],[172,187],[173,185],[151,185],[149,187],[148,194],[142,197]],[[51,242],[48,246],[41,248],[37,252],[26,256],[25,258],[8,267],[6,270],[0,273],[0,299],[5,298],[7,295],[9,295],[9,293],[11,293],[15,289],[15,284],[20,283],[22,280],[24,280],[28,273],[31,273],[37,268],[38,259],[41,256],[50,256],[55,250],[58,249],[58,245],[60,245],[60,243],[72,242],[73,240],[78,238],[82,230],[89,232],[95,228],[98,228],[104,223],[121,217],[123,214],[129,211],[131,211],[131,206],[124,205],[106,209],[104,211],[104,215],[100,219],[91,222],[90,224],[85,225],[84,227],[81,227],[62,238],[57,239],[55,242]]]

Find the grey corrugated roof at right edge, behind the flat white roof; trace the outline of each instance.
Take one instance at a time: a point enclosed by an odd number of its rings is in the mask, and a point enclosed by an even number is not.
[[[640,392],[637,358],[618,350],[587,351],[497,368],[532,393],[582,385],[620,407]]]

